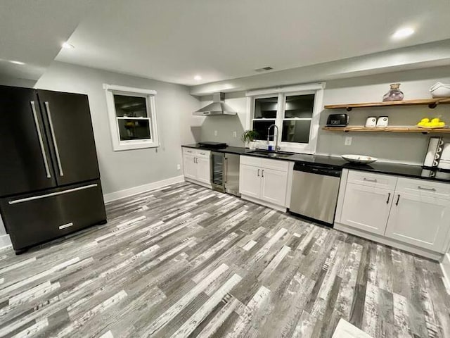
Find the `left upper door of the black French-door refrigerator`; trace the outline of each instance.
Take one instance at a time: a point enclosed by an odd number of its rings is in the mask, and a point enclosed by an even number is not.
[[[56,187],[34,89],[0,86],[0,196]]]

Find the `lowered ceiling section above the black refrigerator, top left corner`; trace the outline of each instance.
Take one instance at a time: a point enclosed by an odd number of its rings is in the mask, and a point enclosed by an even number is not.
[[[0,75],[39,79],[88,4],[89,0],[1,0]],[[11,60],[26,64],[15,65]]]

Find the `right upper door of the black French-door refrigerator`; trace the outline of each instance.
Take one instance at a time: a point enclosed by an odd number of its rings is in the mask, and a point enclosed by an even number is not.
[[[38,90],[58,185],[96,180],[98,171],[86,95]]]

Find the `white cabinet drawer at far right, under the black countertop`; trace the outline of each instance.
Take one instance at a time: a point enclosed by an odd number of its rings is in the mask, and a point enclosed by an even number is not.
[[[399,177],[396,192],[450,200],[450,184]]]

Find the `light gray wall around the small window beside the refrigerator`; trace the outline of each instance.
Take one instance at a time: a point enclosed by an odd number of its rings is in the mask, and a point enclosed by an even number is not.
[[[103,83],[155,89],[161,146],[158,149],[113,151]],[[192,112],[200,107],[188,87],[68,63],[54,62],[36,87],[89,96],[103,193],[165,180],[182,174],[181,144],[193,143]],[[182,168],[181,168],[182,169]]]

